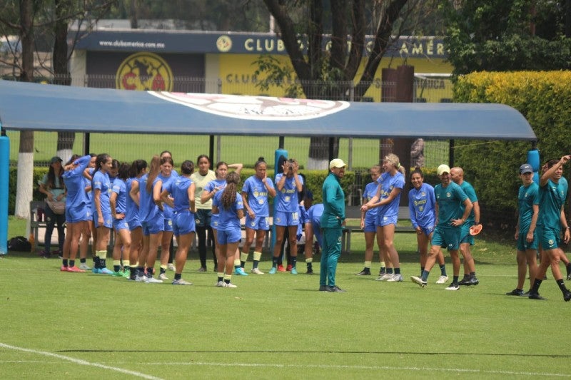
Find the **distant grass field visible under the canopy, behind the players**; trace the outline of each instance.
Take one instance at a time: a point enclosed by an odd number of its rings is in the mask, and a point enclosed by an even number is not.
[[[10,160],[16,162],[19,150],[19,132],[9,131]],[[36,153],[34,160],[49,161],[56,153],[57,133],[36,132],[34,134]],[[94,153],[109,153],[120,161],[131,162],[138,158],[151,160],[153,154],[162,150],[171,150],[175,164],[183,160],[196,160],[198,155],[208,154],[208,135],[142,135],[142,134],[104,134],[93,133],[90,139],[90,149]],[[83,134],[76,133],[74,152],[83,150]],[[253,148],[255,147],[255,148]],[[273,165],[273,157],[278,148],[278,137],[259,136],[222,136],[221,159],[228,163],[243,163],[253,165],[258,157],[263,156]],[[307,165],[309,138],[285,138],[284,148],[290,158],[299,160],[300,165]],[[215,140],[215,152],[217,150]],[[340,139],[339,157],[348,160],[349,140]],[[375,138],[353,139],[353,168],[370,168],[378,163],[379,140]],[[425,145],[426,166],[436,168],[443,162],[448,162],[447,141],[427,141]],[[216,158],[215,158],[216,160]]]

